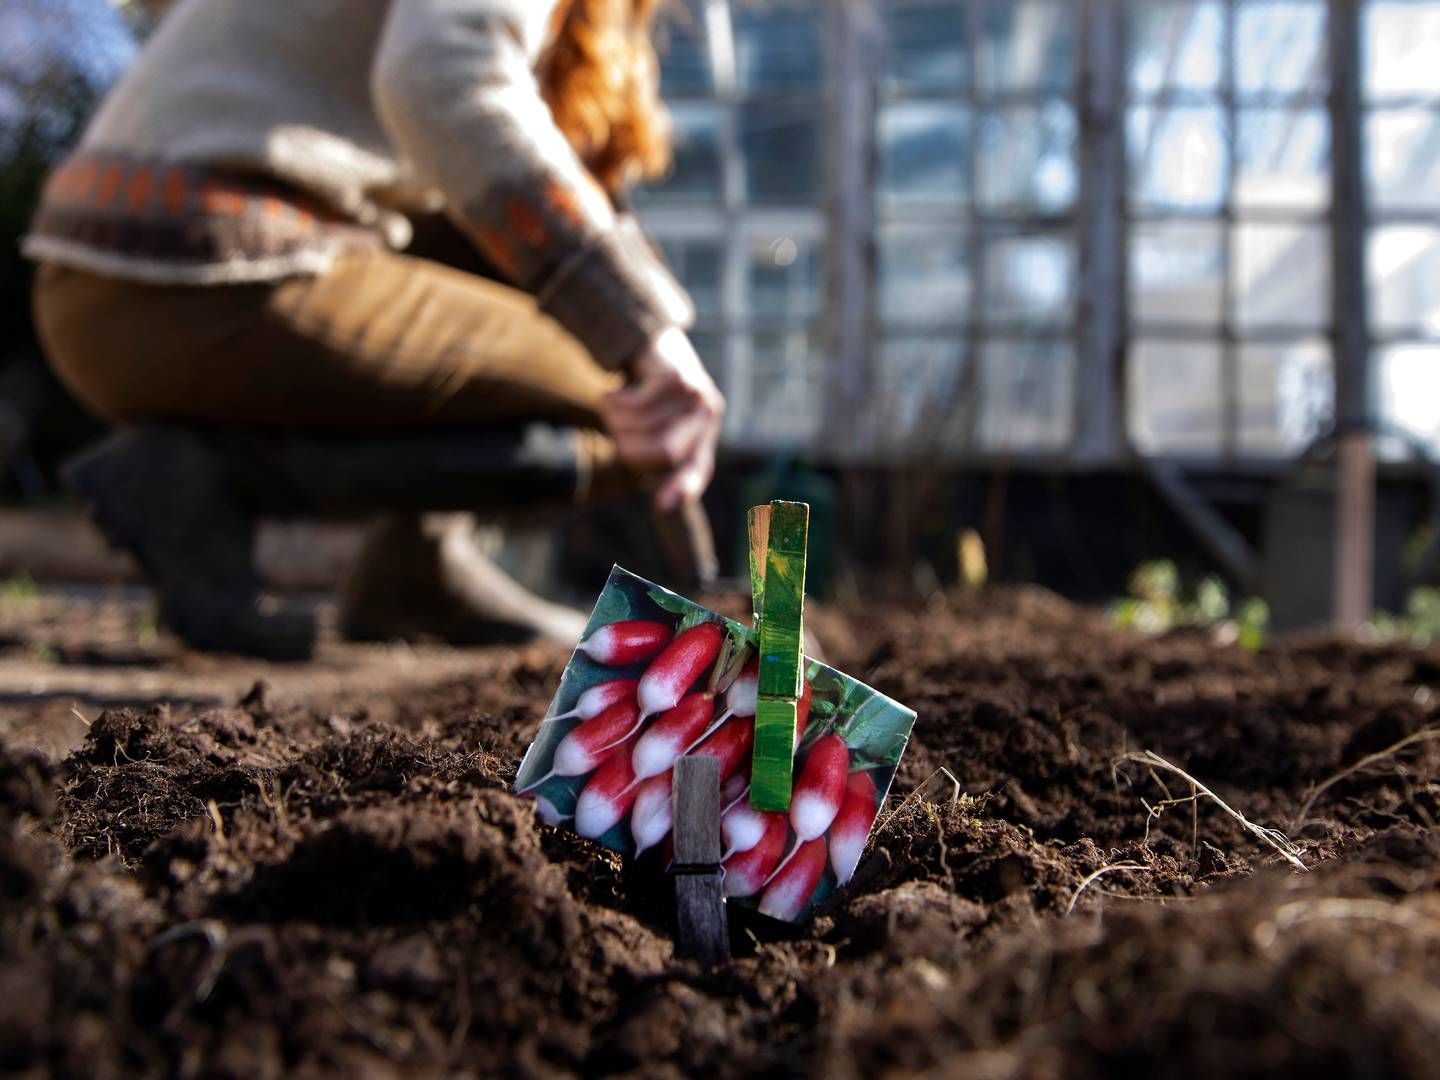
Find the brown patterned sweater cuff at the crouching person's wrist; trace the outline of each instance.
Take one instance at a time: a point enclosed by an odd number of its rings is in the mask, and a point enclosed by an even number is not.
[[[688,330],[696,311],[629,215],[560,264],[537,291],[540,308],[608,369],[619,369],[662,330]]]

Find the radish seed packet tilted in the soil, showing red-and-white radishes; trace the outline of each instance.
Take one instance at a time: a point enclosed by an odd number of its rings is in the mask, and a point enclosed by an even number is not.
[[[914,713],[805,661],[789,812],[749,805],[755,631],[616,566],[570,657],[516,791],[540,818],[626,857],[671,858],[671,773],[720,762],[724,894],[805,922],[855,873]]]

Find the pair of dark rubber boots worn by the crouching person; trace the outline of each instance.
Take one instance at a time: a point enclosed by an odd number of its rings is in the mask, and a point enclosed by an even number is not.
[[[109,540],[145,567],[181,638],[202,649],[298,660],[312,649],[314,625],[272,611],[262,596],[256,517],[553,513],[573,505],[580,467],[577,433],[547,425],[367,438],[145,426],[109,436],[66,477]],[[573,642],[583,628],[577,612],[534,596],[491,563],[472,528],[405,530],[392,526],[373,539],[350,575],[341,625],[354,636]]]

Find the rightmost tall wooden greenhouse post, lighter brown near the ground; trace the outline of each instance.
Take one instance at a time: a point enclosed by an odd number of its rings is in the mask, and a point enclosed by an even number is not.
[[[1369,311],[1365,301],[1361,29],[1355,0],[1331,0],[1331,282],[1335,338],[1335,570],[1336,629],[1352,632],[1371,615],[1375,563],[1374,409]]]

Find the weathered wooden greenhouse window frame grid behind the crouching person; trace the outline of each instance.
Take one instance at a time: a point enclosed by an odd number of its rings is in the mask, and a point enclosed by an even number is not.
[[[1325,30],[1316,62],[1328,65],[1326,75],[1316,85],[1256,92],[1238,86],[1240,62],[1236,35],[1240,13],[1254,0],[1217,0],[1223,13],[1220,82],[1210,91],[1169,89],[1151,95],[1132,94],[1129,71],[1133,56],[1129,40],[1129,0],[1087,0],[1084,4],[1057,0],[1073,17],[1074,62],[1068,84],[1063,88],[1037,85],[1032,88],[984,89],[981,86],[981,52],[985,45],[982,26],[986,3],[959,7],[968,19],[966,63],[963,79],[949,86],[909,86],[899,89],[886,78],[884,7],[893,0],[865,3],[819,3],[822,56],[821,85],[812,99],[818,108],[818,124],[824,145],[828,190],[814,206],[766,207],[747,203],[743,197],[739,158],[739,107],[752,95],[734,86],[717,85],[704,101],[723,108],[721,156],[723,199],[717,206],[701,210],[691,206],[652,207],[647,219],[664,236],[687,229],[706,229],[710,238],[723,243],[723,318],[721,367],[732,396],[732,426],[729,446],[739,452],[773,451],[773,442],[747,438],[743,422],[736,419],[752,405],[749,393],[755,382],[755,357],[749,334],[760,328],[744,305],[746,245],[756,229],[773,228],[780,235],[824,240],[824,275],[819,318],[811,320],[809,333],[816,348],[825,353],[827,374],[824,393],[815,402],[822,413],[819,435],[804,449],[811,456],[832,462],[886,464],[896,458],[930,455],[932,449],[956,461],[979,464],[986,461],[1025,461],[1041,468],[1092,468],[1133,462],[1136,456],[1159,456],[1179,464],[1227,467],[1243,471],[1274,471],[1293,458],[1289,451],[1257,448],[1244,438],[1247,399],[1241,372],[1246,350],[1260,350],[1295,344],[1312,347],[1316,340],[1329,346],[1331,367],[1336,383],[1348,377],[1344,372],[1364,369],[1371,344],[1390,344],[1385,336],[1372,333],[1369,312],[1364,304],[1368,281],[1364,259],[1356,266],[1346,264],[1344,252],[1367,252],[1375,230],[1385,225],[1421,225],[1433,228],[1440,239],[1440,212],[1374,212],[1367,207],[1367,187],[1361,177],[1359,194],[1344,187],[1341,163],[1346,147],[1364,145],[1364,125],[1372,115],[1375,102],[1361,102],[1359,111],[1346,112],[1342,86],[1359,91],[1364,78],[1359,63],[1342,69],[1336,66],[1338,50],[1359,55],[1361,7],[1375,0],[1305,0],[1323,12]],[[727,0],[694,0],[707,17],[716,10],[729,10]],[[943,4],[937,4],[943,7]],[[1348,10],[1346,19],[1336,12]],[[1197,102],[1214,107],[1221,114],[1224,163],[1224,199],[1217,212],[1189,213],[1165,207],[1136,206],[1132,199],[1130,163],[1126,124],[1139,99],[1155,104]],[[883,108],[899,102],[952,102],[968,111],[971,138],[975,140],[984,118],[1008,108],[1044,108],[1048,102],[1066,101],[1074,115],[1074,171],[1077,190],[1068,209],[1058,213],[1035,212],[1032,207],[992,207],[979,197],[979,154],[972,145],[968,153],[971,196],[949,207],[909,210],[887,206],[881,199],[880,128]],[[1398,108],[1416,102],[1385,99],[1381,108]],[[1423,107],[1440,118],[1440,92],[1424,96]],[[1241,173],[1238,157],[1241,120],[1261,109],[1293,109],[1297,117],[1325,118],[1329,130],[1329,166],[1325,171],[1325,199],[1320,206],[1256,206],[1240,199],[1237,187]],[[1342,125],[1348,125],[1342,130]],[[1351,183],[1354,177],[1351,177]],[[1341,197],[1341,196],[1345,197]],[[1158,222],[1195,220],[1212,225],[1220,236],[1220,311],[1218,320],[1207,325],[1184,321],[1132,318],[1130,261],[1135,255],[1136,233]],[[1241,320],[1237,297],[1238,245],[1246,226],[1293,225],[1319,228],[1329,255],[1329,282],[1319,289],[1322,317],[1316,324],[1247,324]],[[886,318],[881,308],[880,249],[890,230],[906,228],[945,228],[955,230],[969,264],[969,295],[973,314],[956,312],[953,318],[933,323],[913,318]],[[1060,325],[1037,328],[1030,324],[1005,325],[986,310],[985,253],[996,236],[1007,230],[1032,230],[1037,235],[1064,238],[1071,253],[1073,312]],[[1349,246],[1346,246],[1349,245]],[[799,327],[799,324],[793,324]],[[962,413],[963,438],[943,448],[899,446],[886,432],[874,431],[864,419],[870,395],[880,383],[880,364],[887,348],[900,343],[933,338],[945,348],[960,350],[960,389],[955,409]],[[978,402],[982,399],[979,369],[982,348],[995,341],[1001,346],[1034,340],[1053,340],[1073,350],[1071,429],[1060,448],[986,448],[978,438]],[[1214,454],[1143,451],[1133,442],[1136,425],[1132,422],[1130,400],[1132,354],[1156,341],[1217,343],[1221,348],[1221,439]],[[1401,334],[1401,344],[1440,343],[1440,327],[1423,338]],[[923,364],[922,364],[923,366]],[[1253,380],[1251,380],[1253,383]],[[1372,400],[1369,392],[1367,400]],[[891,433],[893,435],[893,433]]]

